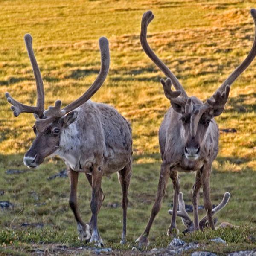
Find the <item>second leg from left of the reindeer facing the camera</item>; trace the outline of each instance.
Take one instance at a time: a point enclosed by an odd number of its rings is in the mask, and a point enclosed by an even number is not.
[[[173,230],[177,230],[176,217],[177,217],[177,211],[178,211],[178,195],[180,193],[180,182],[179,182],[179,176],[177,172],[171,170],[170,178],[172,179],[172,183],[173,183],[174,195],[173,195],[173,207],[172,207],[172,213],[173,213],[172,221],[168,229],[167,236],[171,236],[173,233]]]

